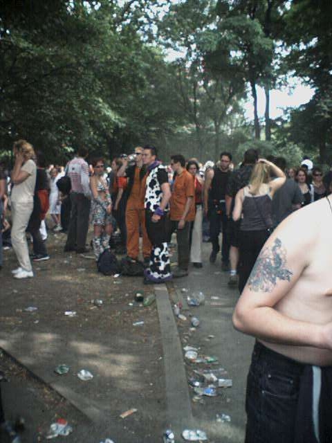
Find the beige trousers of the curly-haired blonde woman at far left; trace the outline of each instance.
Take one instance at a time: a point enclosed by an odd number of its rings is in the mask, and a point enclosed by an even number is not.
[[[12,202],[12,248],[15,251],[19,266],[25,271],[32,271],[26,242],[26,228],[33,212],[33,201],[29,203]]]

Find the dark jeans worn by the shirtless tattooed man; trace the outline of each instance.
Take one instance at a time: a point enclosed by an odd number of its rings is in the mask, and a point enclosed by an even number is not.
[[[332,368],[320,369],[320,443],[330,443]],[[245,443],[317,443],[312,392],[313,366],[257,342],[247,379]]]

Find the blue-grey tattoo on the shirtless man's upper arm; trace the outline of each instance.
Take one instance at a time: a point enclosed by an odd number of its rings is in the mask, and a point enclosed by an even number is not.
[[[279,238],[261,250],[248,278],[250,291],[272,292],[277,280],[291,281],[293,272],[286,269],[286,248]]]

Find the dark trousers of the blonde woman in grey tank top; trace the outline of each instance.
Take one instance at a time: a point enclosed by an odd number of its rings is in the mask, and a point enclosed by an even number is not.
[[[268,239],[269,233],[264,230],[240,230],[239,235],[239,291],[246,286],[250,272],[254,267],[261,248]]]

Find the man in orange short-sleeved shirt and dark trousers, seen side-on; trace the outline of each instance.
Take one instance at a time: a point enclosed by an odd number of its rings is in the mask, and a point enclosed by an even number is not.
[[[173,277],[184,277],[188,275],[190,260],[190,224],[195,219],[194,177],[185,169],[185,158],[180,154],[171,157],[171,166],[176,177],[169,201],[170,218],[178,243],[178,267],[174,269]]]

